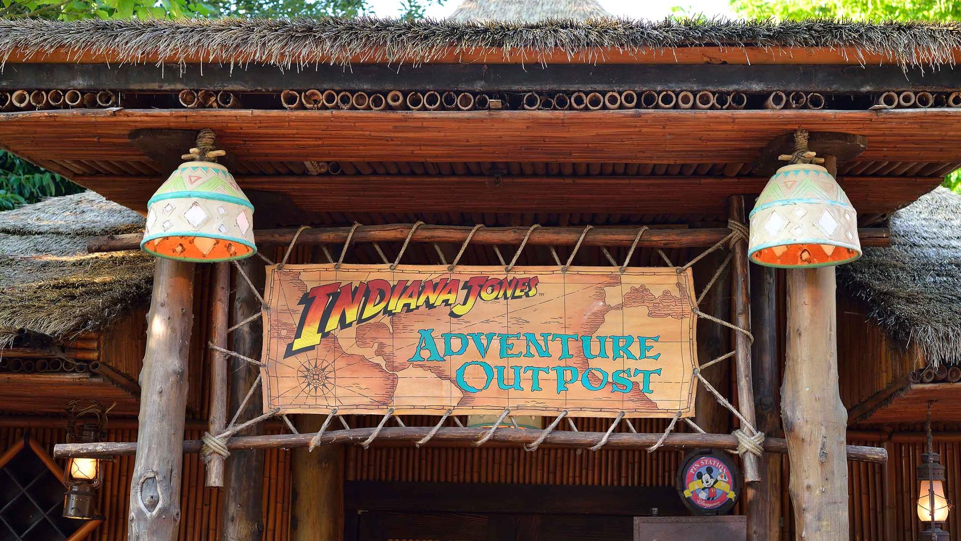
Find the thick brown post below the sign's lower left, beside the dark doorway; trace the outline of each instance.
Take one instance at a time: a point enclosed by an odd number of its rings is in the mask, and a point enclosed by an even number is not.
[[[324,415],[298,415],[297,430],[320,430]],[[291,541],[340,541],[344,535],[344,446],[290,453]]]

